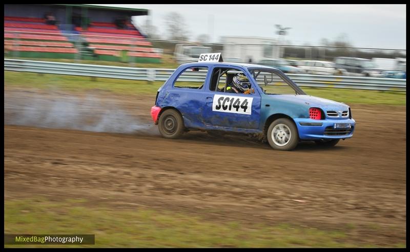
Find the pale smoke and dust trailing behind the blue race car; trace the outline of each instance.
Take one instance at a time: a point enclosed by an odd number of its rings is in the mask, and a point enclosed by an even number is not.
[[[133,115],[138,108],[125,109],[119,102],[58,93],[5,95],[5,124],[94,132],[158,134],[150,121]],[[134,111],[133,111],[134,110]],[[149,114],[149,111],[147,111]]]

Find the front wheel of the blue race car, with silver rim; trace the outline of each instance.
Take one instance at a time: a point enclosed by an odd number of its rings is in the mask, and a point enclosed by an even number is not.
[[[276,150],[293,150],[298,145],[299,135],[291,120],[279,118],[269,126],[267,139],[269,145]]]

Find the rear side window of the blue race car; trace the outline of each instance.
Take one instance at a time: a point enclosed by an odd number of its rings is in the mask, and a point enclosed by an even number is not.
[[[184,70],[174,82],[176,88],[202,89],[207,78],[208,67],[190,67]]]

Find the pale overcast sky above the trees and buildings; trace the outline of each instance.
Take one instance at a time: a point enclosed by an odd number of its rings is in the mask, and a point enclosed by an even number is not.
[[[354,47],[406,49],[406,5],[104,5],[148,9],[158,33],[167,34],[165,16],[178,12],[187,30],[219,42],[221,36],[276,38],[275,25],[291,27],[294,45],[320,45],[347,34]],[[142,22],[146,17],[137,17]],[[213,24],[213,25],[212,25]]]

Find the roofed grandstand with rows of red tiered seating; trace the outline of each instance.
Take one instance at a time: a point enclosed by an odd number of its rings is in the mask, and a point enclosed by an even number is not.
[[[160,62],[131,23],[146,9],[91,5],[4,5],[5,56]],[[22,8],[24,6],[24,8]],[[55,24],[48,19],[55,17]]]

